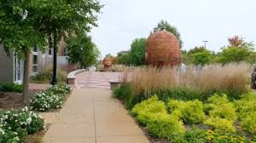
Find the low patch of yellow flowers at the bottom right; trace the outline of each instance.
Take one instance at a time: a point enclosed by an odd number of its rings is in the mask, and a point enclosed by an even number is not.
[[[224,132],[222,130],[207,130],[207,142],[211,143],[249,143],[245,136],[236,133]]]

